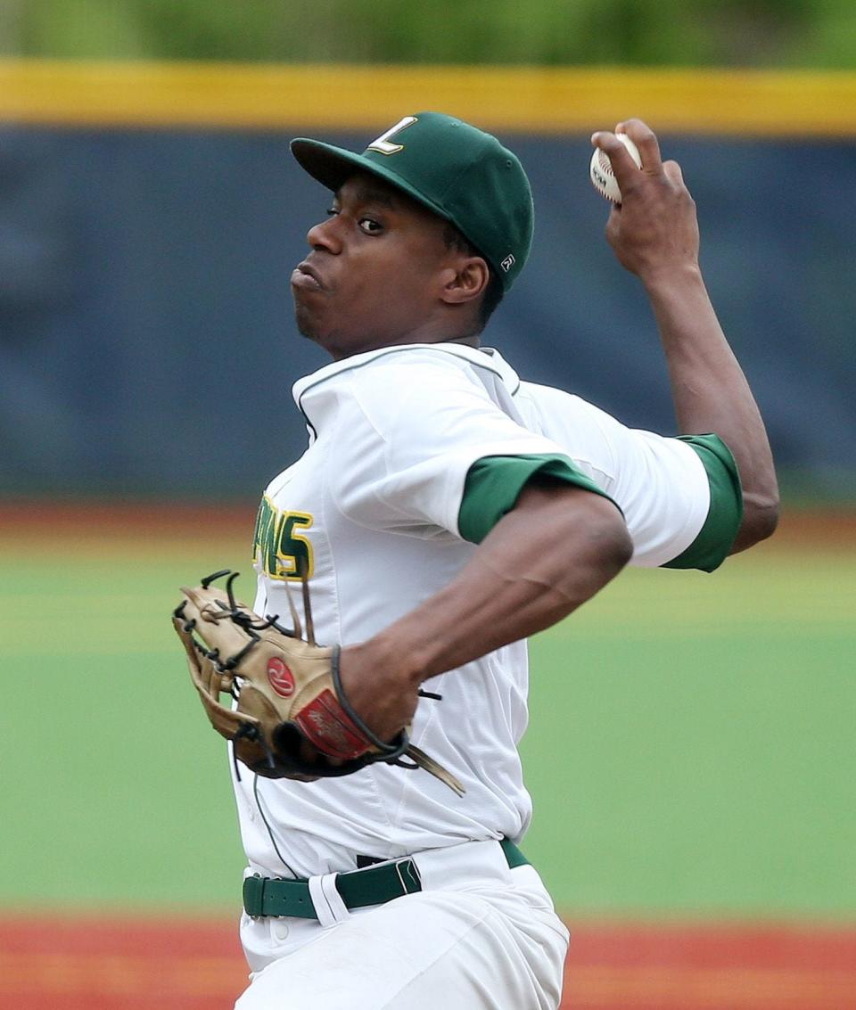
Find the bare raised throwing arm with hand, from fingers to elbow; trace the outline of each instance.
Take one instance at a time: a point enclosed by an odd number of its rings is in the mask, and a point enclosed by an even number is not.
[[[609,214],[606,237],[651,300],[681,433],[716,432],[737,462],[744,515],[734,553],[769,536],[778,519],[764,422],[704,287],[695,204],[679,166],[661,160],[657,137],[641,120],[615,128],[635,141],[643,168],[637,169],[614,133],[593,134],[592,143],[612,163],[623,197]]]

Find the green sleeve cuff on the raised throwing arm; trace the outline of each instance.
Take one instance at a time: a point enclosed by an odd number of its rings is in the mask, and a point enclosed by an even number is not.
[[[710,506],[698,536],[663,568],[694,568],[712,572],[728,558],[743,522],[743,489],[731,449],[719,435],[680,435],[691,445],[707,472]]]

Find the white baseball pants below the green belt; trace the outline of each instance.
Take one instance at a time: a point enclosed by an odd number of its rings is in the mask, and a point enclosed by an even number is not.
[[[235,1010],[556,1010],[569,936],[537,872],[493,841],[412,858],[420,892],[325,925],[245,915]]]

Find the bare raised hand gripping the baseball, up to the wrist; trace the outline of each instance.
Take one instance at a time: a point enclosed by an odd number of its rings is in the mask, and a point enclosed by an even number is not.
[[[600,130],[591,142],[609,159],[622,191],[606,222],[606,239],[619,263],[643,282],[670,271],[698,269],[698,222],[695,202],[683,183],[677,162],[663,162],[654,131],[641,119],[619,123],[642,158],[634,164],[615,134]]]

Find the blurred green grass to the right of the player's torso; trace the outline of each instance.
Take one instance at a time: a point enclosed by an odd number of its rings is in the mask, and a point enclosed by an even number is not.
[[[856,918],[854,576],[629,572],[538,639],[529,849],[565,909]]]

